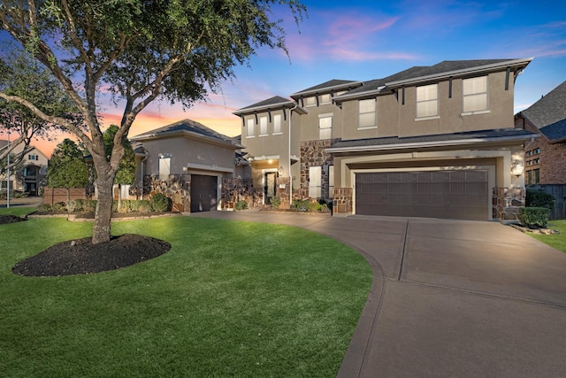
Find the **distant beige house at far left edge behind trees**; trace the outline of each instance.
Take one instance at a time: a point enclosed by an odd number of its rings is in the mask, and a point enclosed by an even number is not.
[[[8,147],[8,141],[0,140],[0,150]],[[23,144],[19,144],[12,150],[11,156],[19,156],[24,149]],[[11,169],[10,189],[27,193],[28,196],[38,196],[40,189],[45,186],[45,174],[49,159],[45,154],[35,148],[28,146],[23,160],[18,166]],[[7,174],[0,175],[0,188],[5,190],[7,187]]]

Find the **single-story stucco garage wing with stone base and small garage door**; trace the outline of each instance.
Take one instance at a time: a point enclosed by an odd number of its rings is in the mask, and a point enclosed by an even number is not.
[[[220,210],[223,180],[249,177],[239,153],[242,146],[194,120],[180,120],[130,141],[139,195],[164,192],[180,212]]]

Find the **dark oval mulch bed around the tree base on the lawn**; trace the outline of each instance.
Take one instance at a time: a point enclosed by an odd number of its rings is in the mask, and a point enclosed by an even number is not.
[[[98,244],[86,237],[55,244],[20,261],[11,271],[35,277],[94,274],[157,258],[169,250],[170,243],[143,235],[112,236],[110,242]]]

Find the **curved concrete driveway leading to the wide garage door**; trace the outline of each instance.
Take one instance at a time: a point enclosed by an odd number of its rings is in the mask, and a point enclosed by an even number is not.
[[[566,253],[494,222],[270,212],[359,251],[374,282],[340,377],[566,376]]]

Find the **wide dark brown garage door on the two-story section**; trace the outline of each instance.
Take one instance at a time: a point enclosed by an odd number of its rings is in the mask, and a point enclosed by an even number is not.
[[[483,170],[356,174],[356,213],[488,220]]]

